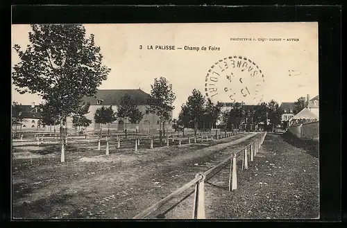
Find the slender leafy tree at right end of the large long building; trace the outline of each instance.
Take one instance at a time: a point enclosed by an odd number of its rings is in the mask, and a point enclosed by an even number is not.
[[[154,84],[151,85],[151,95],[149,97],[149,107],[147,110],[159,116],[160,119],[160,144],[162,143],[162,129],[164,129],[164,121],[171,119],[171,112],[174,110],[172,105],[176,100],[176,95],[172,91],[172,85],[169,81],[160,77],[154,78]],[[162,127],[161,127],[162,125]]]

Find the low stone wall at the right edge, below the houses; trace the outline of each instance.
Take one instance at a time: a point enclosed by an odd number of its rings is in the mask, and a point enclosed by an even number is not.
[[[288,128],[291,134],[303,139],[319,139],[319,121],[292,125]]]

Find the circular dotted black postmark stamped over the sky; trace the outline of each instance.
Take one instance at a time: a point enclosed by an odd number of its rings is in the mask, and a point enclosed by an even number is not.
[[[205,96],[217,103],[262,102],[264,74],[252,60],[229,56],[215,62],[205,78]]]

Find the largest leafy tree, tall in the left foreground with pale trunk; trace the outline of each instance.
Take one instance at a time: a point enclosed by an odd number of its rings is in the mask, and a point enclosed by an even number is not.
[[[96,94],[110,69],[102,64],[100,47],[94,35],[86,37],[84,26],[34,24],[31,29],[26,50],[14,46],[20,62],[13,67],[13,85],[19,94],[37,94],[56,108],[64,155],[64,119],[76,112],[84,96]]]

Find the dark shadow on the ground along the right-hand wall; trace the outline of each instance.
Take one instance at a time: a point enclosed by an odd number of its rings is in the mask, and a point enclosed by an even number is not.
[[[283,133],[282,139],[286,143],[291,144],[291,146],[306,150],[307,154],[311,155],[312,157],[319,157],[319,141],[314,141],[312,139],[300,139],[291,132]]]

